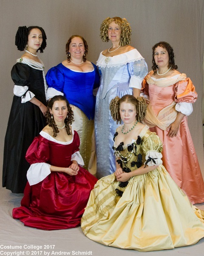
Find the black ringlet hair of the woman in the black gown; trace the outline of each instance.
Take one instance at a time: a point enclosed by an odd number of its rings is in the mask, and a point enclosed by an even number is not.
[[[17,49],[23,51],[26,48],[26,44],[28,43],[28,35],[30,34],[31,29],[40,29],[40,31],[42,32],[42,44],[40,48],[37,49],[37,52],[38,50],[40,50],[40,52],[43,52],[43,50],[47,46],[47,37],[45,35],[44,29],[39,26],[29,26],[28,28],[26,26],[18,27],[15,38],[15,45],[17,46]]]

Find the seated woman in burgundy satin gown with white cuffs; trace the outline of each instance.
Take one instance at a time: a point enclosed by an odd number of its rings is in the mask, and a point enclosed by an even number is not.
[[[48,125],[26,153],[28,183],[13,218],[42,230],[77,227],[97,179],[81,167],[79,136],[71,128],[73,112],[64,96],[50,100],[46,118]]]

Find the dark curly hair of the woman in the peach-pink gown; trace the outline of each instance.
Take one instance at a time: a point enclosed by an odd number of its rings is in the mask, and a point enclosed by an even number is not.
[[[155,44],[153,47],[152,47],[152,70],[154,71],[154,74],[156,73],[156,70],[158,69],[158,66],[154,60],[154,52],[155,52],[155,49],[156,47],[162,47],[164,49],[167,50],[168,54],[169,54],[169,64],[168,64],[168,68],[172,68],[174,70],[176,70],[178,67],[177,65],[175,65],[174,63],[174,52],[173,52],[173,48],[170,46],[170,44],[168,44],[167,42],[164,42],[164,41],[161,41],[157,44]]]

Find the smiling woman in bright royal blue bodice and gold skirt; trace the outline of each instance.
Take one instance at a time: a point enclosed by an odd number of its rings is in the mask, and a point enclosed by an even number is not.
[[[84,38],[73,35],[66,44],[67,60],[52,67],[46,74],[48,99],[63,95],[74,112],[73,128],[79,134],[80,154],[85,169],[96,174],[93,90],[99,87],[96,65],[86,60],[88,45]]]

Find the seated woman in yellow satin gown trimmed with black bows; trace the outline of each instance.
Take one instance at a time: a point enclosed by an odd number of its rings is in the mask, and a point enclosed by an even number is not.
[[[114,136],[116,171],[91,191],[82,231],[101,244],[138,251],[195,244],[204,237],[201,211],[162,165],[161,140],[137,121],[145,109],[137,99],[111,101],[113,119],[124,122]]]

